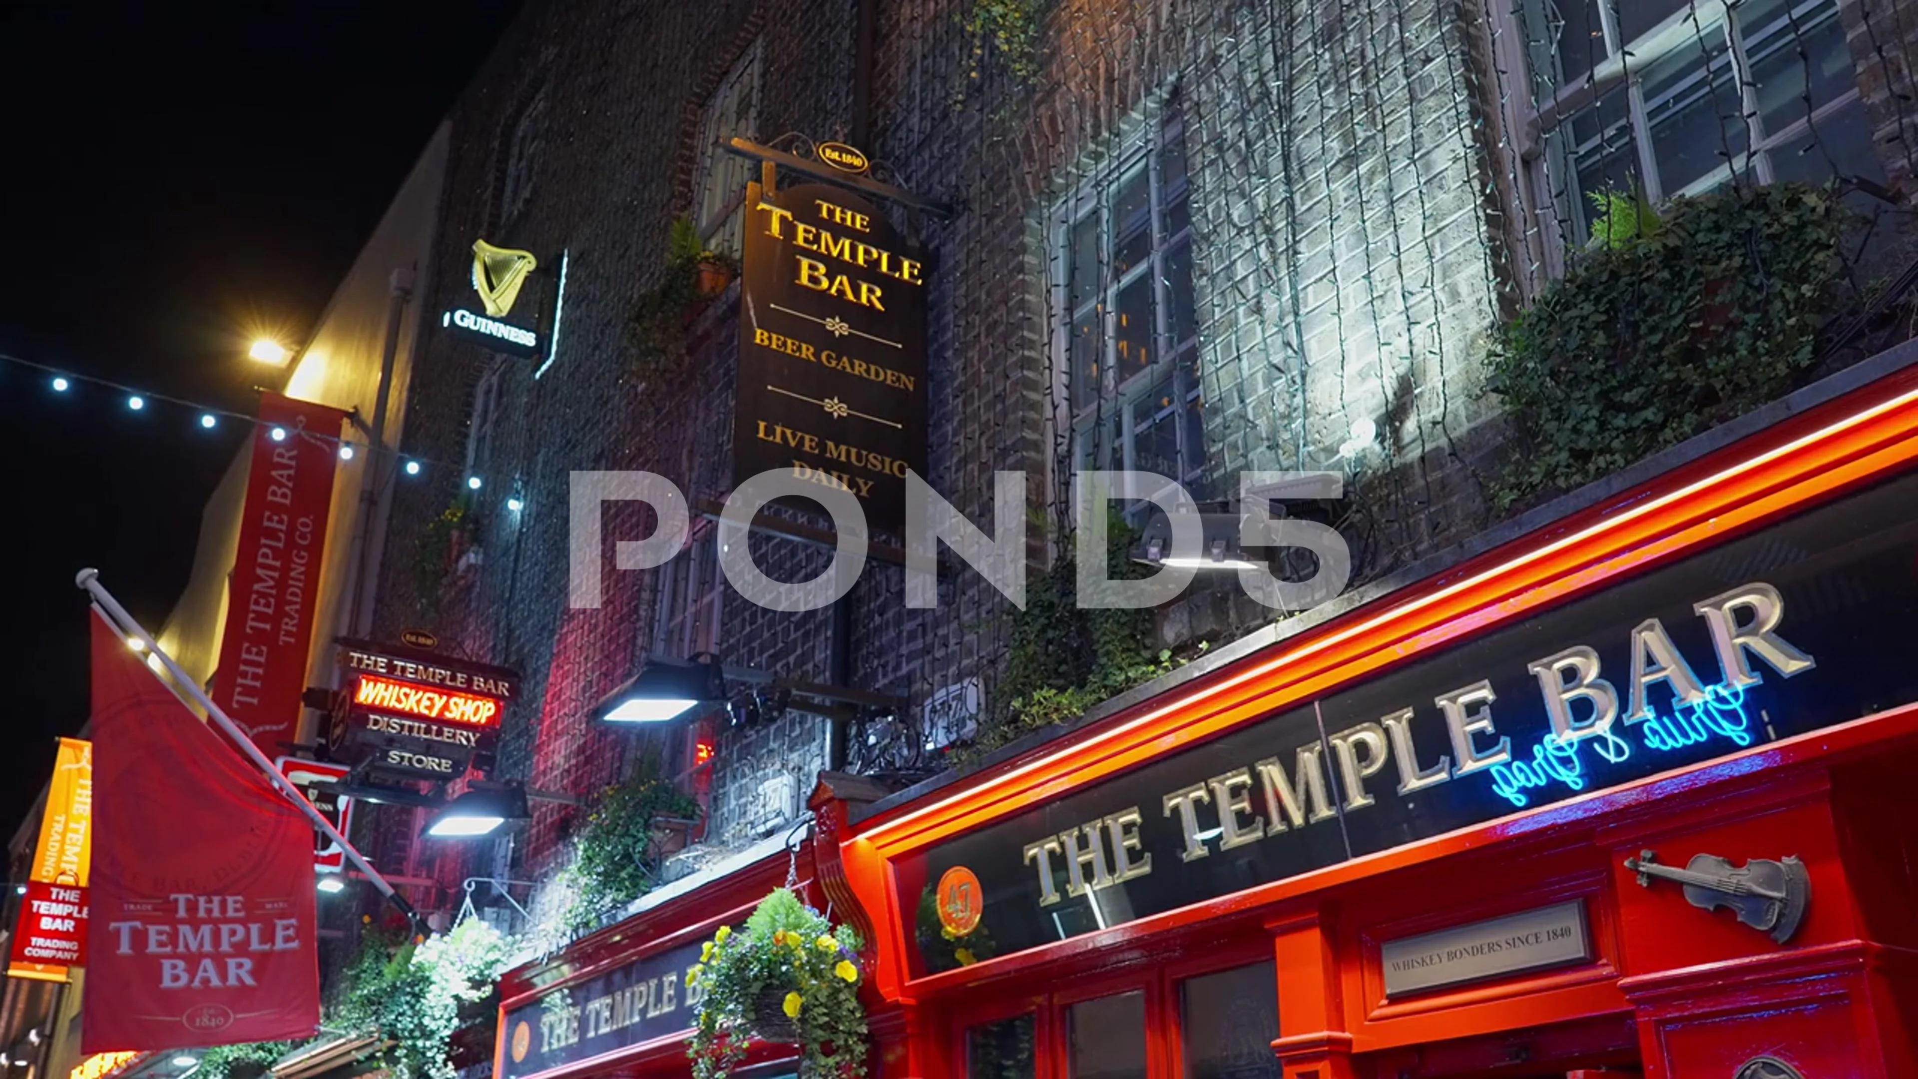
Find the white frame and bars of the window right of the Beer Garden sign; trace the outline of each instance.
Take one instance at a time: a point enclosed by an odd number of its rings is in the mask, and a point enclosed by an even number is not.
[[[1114,154],[1109,167],[1099,169],[1099,173],[1078,186],[1070,196],[1066,196],[1059,207],[1053,211],[1047,223],[1047,242],[1049,257],[1053,265],[1053,361],[1055,371],[1061,372],[1055,386],[1057,415],[1061,428],[1068,432],[1068,461],[1074,470],[1084,470],[1088,467],[1109,468],[1109,470],[1137,470],[1139,463],[1139,438],[1151,430],[1151,426],[1162,419],[1172,419],[1178,428],[1178,474],[1172,476],[1187,492],[1199,492],[1205,480],[1206,465],[1206,445],[1205,430],[1197,432],[1197,459],[1191,457],[1191,434],[1185,424],[1199,422],[1203,426],[1203,399],[1197,376],[1197,349],[1199,349],[1199,328],[1197,328],[1197,296],[1189,296],[1193,303],[1193,326],[1187,326],[1189,336],[1183,340],[1174,340],[1174,286],[1168,280],[1166,261],[1181,246],[1185,252],[1185,288],[1193,290],[1193,228],[1191,228],[1191,169],[1185,169],[1183,177],[1176,180],[1162,175],[1162,165],[1166,157],[1166,148],[1178,140],[1183,146],[1185,119],[1172,106],[1164,115],[1157,117],[1139,134],[1130,138],[1130,146]],[[1180,156],[1183,159],[1183,154]],[[1130,267],[1122,275],[1112,275],[1111,250],[1114,232],[1114,200],[1128,180],[1147,173],[1147,198],[1149,198],[1149,228],[1151,228],[1151,255],[1141,259],[1139,265]],[[1187,200],[1187,219],[1185,225],[1176,232],[1168,232],[1166,209],[1172,198]],[[1099,217],[1099,267],[1107,275],[1105,282],[1097,294],[1086,303],[1074,303],[1072,300],[1072,234],[1074,228],[1088,221],[1089,217]],[[1139,278],[1151,275],[1157,280],[1153,290],[1153,332],[1151,342],[1157,359],[1151,359],[1147,367],[1126,376],[1124,382],[1116,380],[1118,374],[1118,296],[1134,286]],[[1074,407],[1074,380],[1080,376],[1074,371],[1074,326],[1080,324],[1084,317],[1099,319],[1101,332],[1101,361],[1099,361],[1099,390],[1093,401],[1086,407]],[[1172,382],[1172,399],[1153,407],[1149,397],[1153,390],[1160,388],[1166,380]],[[1178,413],[1178,415],[1172,415]],[[1116,424],[1116,426],[1114,426]],[[1105,438],[1116,432],[1116,445],[1105,445]],[[1170,490],[1170,488],[1168,488]],[[1139,499],[1158,492],[1112,492],[1112,497]],[[1135,507],[1137,513],[1141,507]]]

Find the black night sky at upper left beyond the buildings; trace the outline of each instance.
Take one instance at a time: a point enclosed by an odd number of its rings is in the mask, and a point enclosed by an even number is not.
[[[0,6],[0,353],[251,413],[259,332],[301,340],[518,10]],[[86,720],[102,582],[157,630],[244,432],[0,363],[0,827]]]

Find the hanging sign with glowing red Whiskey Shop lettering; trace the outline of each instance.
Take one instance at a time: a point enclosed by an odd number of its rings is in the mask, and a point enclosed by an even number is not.
[[[499,724],[520,685],[512,670],[407,645],[339,641],[343,708],[332,755],[401,779],[447,781],[491,768]]]

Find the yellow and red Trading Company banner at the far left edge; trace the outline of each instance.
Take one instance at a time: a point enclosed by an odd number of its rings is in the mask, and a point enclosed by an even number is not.
[[[27,872],[8,975],[65,981],[86,966],[86,868],[92,847],[94,747],[63,737]]]

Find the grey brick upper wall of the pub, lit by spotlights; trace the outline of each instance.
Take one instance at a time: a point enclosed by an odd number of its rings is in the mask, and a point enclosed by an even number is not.
[[[992,48],[974,52],[965,10],[967,0],[877,4],[865,146],[880,177],[957,207],[949,221],[890,211],[930,252],[930,484],[984,522],[992,472],[1022,470],[1030,503],[1057,520],[1068,468],[1047,221],[1070,192],[1112,182],[1114,148],[1151,131],[1176,96],[1214,484],[1229,490],[1245,468],[1341,472],[1348,497],[1337,520],[1362,576],[1479,530],[1481,476],[1498,445],[1481,394],[1485,332],[1538,278],[1536,228],[1515,205],[1525,184],[1500,150],[1509,73],[1494,60],[1490,8],[1059,0],[1034,86]],[[504,776],[587,793],[643,756],[677,753],[666,731],[587,722],[591,705],[637,672],[658,601],[650,574],[614,570],[606,555],[602,607],[566,609],[568,472],[646,468],[692,499],[727,493],[737,296],[690,326],[689,357],[667,371],[635,367],[625,321],[658,278],[667,223],[690,209],[698,123],[723,75],[763,42],[760,138],[848,138],[855,19],[855,0],[539,4],[455,109],[426,303],[466,296],[468,250],[485,236],[549,265],[568,253],[564,323],[539,378],[526,361],[428,332],[405,447],[428,470],[395,505],[380,624],[397,634],[435,620],[453,647],[524,672]],[[1870,25],[1889,35],[1897,23],[1903,42],[1914,19],[1897,19]],[[1885,86],[1872,100],[1893,134],[1908,113],[1889,88],[1908,79],[1906,54],[1872,50],[1878,67],[1864,75]],[[499,221],[503,144],[531,100],[543,100],[537,167],[524,207]],[[474,432],[476,388],[497,365],[497,419]],[[1375,426],[1375,445],[1348,445],[1360,420]],[[485,480],[483,557],[428,618],[405,551],[460,493],[468,445]],[[503,507],[508,492],[526,499],[516,515]],[[608,507],[606,547],[650,526],[639,507]],[[1043,563],[1055,536],[1028,530],[1030,557]],[[756,536],[752,547],[779,580],[809,578],[827,561],[790,540]],[[915,707],[969,678],[990,693],[1009,607],[976,574],[949,574],[936,611],[907,611],[901,572],[873,563],[844,603],[854,685]],[[1170,637],[1218,643],[1262,618],[1203,591],[1160,624]],[[830,682],[832,624],[827,611],[779,614],[727,591],[719,651],[733,664]],[[825,731],[804,712],[725,730],[708,839],[763,831],[775,776],[794,776],[804,797],[825,764]],[[575,812],[537,808],[514,875],[554,868]]]

